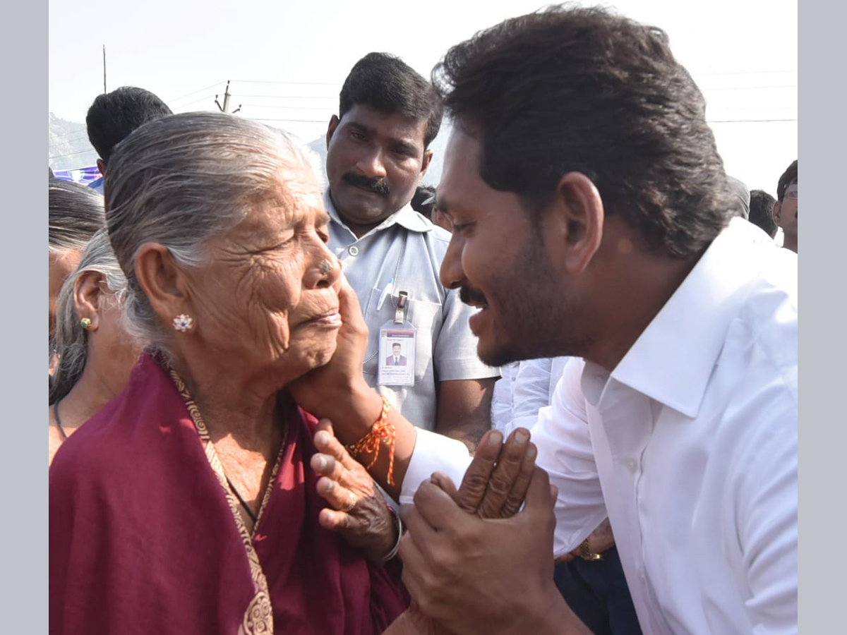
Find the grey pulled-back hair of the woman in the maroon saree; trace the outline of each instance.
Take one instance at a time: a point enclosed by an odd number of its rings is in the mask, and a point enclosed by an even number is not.
[[[138,284],[138,248],[155,242],[185,267],[202,267],[208,240],[235,227],[257,201],[278,191],[280,174],[323,181],[317,153],[281,130],[228,113],[181,113],[155,119],[115,147],[106,179],[109,240],[128,290],[128,332],[165,348]]]

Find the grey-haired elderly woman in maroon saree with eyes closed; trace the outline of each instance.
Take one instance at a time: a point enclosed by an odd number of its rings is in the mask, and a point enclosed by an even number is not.
[[[309,157],[165,117],[116,148],[106,210],[150,345],[50,469],[52,632],[382,632],[407,604],[395,523],[349,457],[312,469],[287,389],[333,355],[345,284]]]

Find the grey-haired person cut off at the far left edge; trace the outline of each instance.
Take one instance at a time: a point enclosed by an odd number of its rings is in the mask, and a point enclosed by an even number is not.
[[[104,224],[103,199],[89,187],[50,179],[47,208],[48,223],[48,339],[50,340],[51,370],[56,361],[53,333],[56,322],[56,299],[64,280],[80,264],[82,250],[97,229]]]

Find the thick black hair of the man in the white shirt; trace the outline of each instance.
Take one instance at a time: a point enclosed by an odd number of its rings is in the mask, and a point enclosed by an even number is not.
[[[733,215],[706,102],[656,27],[547,8],[452,47],[433,84],[479,140],[484,181],[529,210],[580,172],[607,215],[672,257],[704,251]]]

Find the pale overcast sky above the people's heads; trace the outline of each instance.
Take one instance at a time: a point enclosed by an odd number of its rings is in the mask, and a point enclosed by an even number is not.
[[[452,44],[541,6],[538,0],[53,0],[49,110],[85,120],[103,89],[105,45],[110,91],[141,86],[174,112],[188,112],[215,109],[215,94],[223,102],[231,80],[230,110],[241,104],[242,116],[311,141],[324,135],[340,84],[365,53],[394,53],[429,77]],[[606,6],[667,31],[675,55],[706,95],[728,173],[774,194],[779,174],[797,157],[796,1],[618,0]]]

